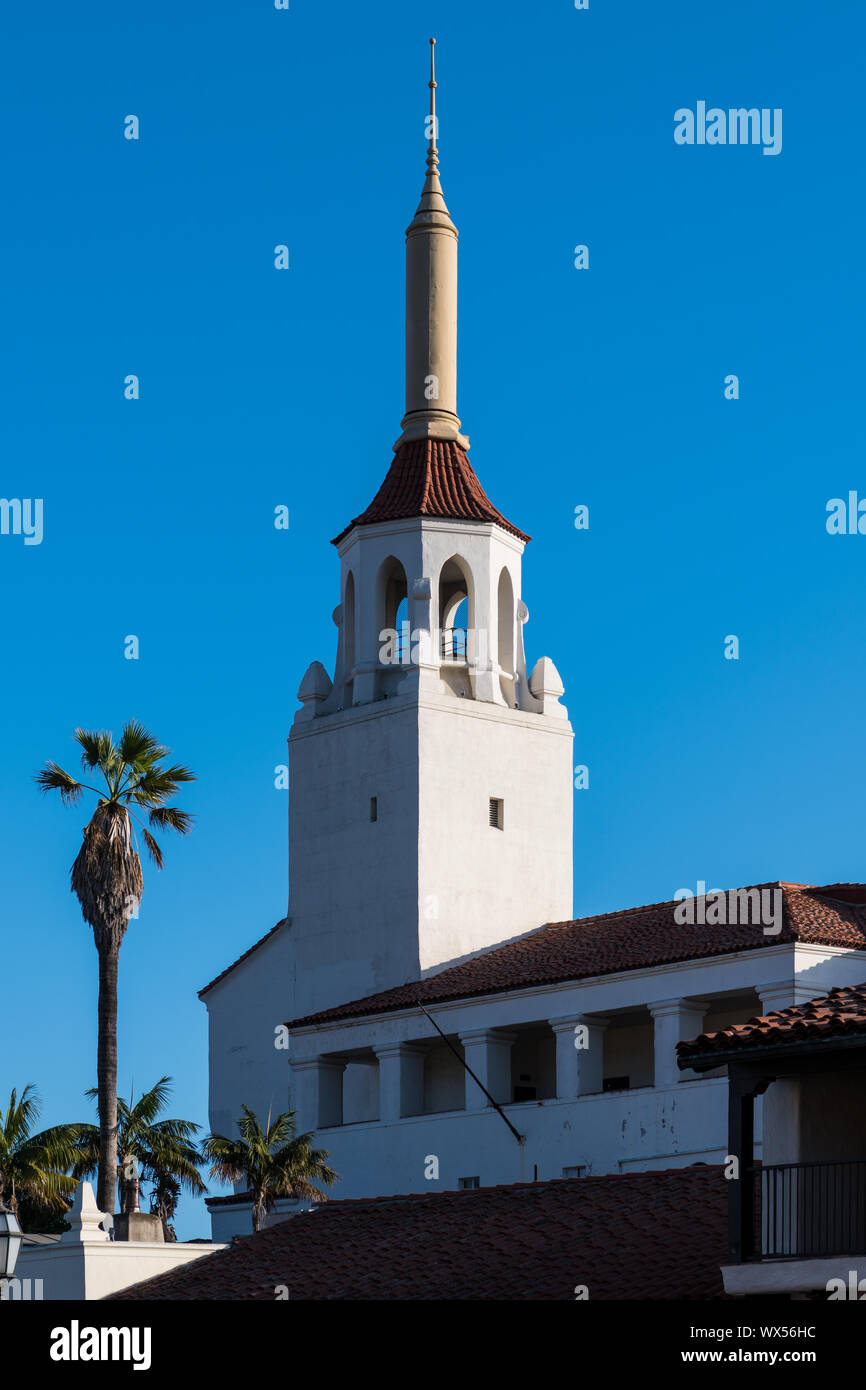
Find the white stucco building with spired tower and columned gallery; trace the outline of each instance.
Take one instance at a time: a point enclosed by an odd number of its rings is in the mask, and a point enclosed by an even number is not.
[[[202,991],[210,1123],[296,1109],[341,1197],[721,1161],[724,1076],[683,1077],[676,1044],[859,983],[866,890],[763,885],[773,922],[755,897],[726,899],[727,924],[673,902],[570,920],[571,726],[553,662],[527,673],[528,537],[456,411],[431,129],[402,434],[334,542],[336,660],[309,667],[289,737],[288,916]],[[211,1216],[217,1240],[250,1229],[245,1201]]]

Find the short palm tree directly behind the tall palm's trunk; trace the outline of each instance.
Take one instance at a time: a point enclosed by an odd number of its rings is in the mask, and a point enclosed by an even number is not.
[[[99,1093],[92,1088],[86,1093],[99,1104]],[[129,1212],[135,1207],[132,1184],[121,1179],[129,1159],[138,1159],[142,1182],[153,1183],[154,1193],[158,1193],[156,1209],[163,1218],[163,1229],[167,1232],[168,1220],[174,1216],[178,1198],[182,1190],[193,1197],[202,1197],[207,1187],[199,1175],[202,1154],[196,1148],[195,1136],[200,1126],[192,1120],[157,1119],[165,1109],[171,1094],[171,1077],[161,1076],[156,1086],[145,1091],[138,1101],[129,1098],[129,1104],[118,1097],[117,1099],[117,1182],[121,1188],[121,1212]],[[100,1161],[100,1130],[93,1125],[83,1125],[78,1141],[78,1158],[72,1169],[75,1177],[89,1177]],[[113,1194],[114,1209],[114,1194]]]

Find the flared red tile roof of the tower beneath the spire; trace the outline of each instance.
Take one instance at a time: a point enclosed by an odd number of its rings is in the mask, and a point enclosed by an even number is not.
[[[339,545],[353,525],[399,521],[403,517],[446,517],[450,521],[495,521],[520,541],[525,532],[496,512],[475,477],[466,450],[453,441],[413,439],[396,450],[391,468],[366,512],[331,542]]]

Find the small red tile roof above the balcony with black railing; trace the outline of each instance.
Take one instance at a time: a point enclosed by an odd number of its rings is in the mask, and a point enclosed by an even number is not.
[[[866,1044],[866,984],[831,990],[808,1004],[762,1013],[719,1033],[702,1033],[688,1042],[677,1042],[677,1061],[685,1068],[694,1058],[712,1056],[714,1065],[721,1052],[849,1037],[860,1037]]]

